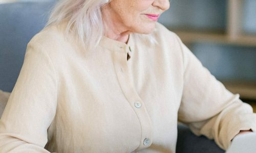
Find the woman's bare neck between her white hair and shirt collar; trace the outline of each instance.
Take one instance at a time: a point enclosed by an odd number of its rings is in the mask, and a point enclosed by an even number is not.
[[[127,43],[129,40],[129,35],[131,31],[123,27],[118,20],[115,20],[112,16],[111,9],[108,6],[102,8],[102,18],[105,26],[104,36]],[[111,18],[112,17],[112,18]]]

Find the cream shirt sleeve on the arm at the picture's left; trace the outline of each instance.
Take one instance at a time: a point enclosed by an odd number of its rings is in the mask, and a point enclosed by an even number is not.
[[[39,44],[28,44],[22,70],[0,120],[0,152],[49,152],[44,147],[56,101],[53,63]]]

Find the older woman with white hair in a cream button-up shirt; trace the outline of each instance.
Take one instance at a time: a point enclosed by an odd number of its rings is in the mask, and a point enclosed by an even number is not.
[[[223,149],[255,115],[157,23],[167,0],[62,0],[28,44],[1,152],[175,152],[178,120]]]

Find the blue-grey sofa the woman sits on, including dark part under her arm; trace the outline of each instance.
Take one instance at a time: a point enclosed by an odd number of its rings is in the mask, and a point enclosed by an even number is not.
[[[29,40],[44,28],[52,2],[0,5],[0,89],[11,92],[22,67]],[[1,101],[0,101],[1,102]],[[178,125],[177,152],[224,152],[214,141]]]

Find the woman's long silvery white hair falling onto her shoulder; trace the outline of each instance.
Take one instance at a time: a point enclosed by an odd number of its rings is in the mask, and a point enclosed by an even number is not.
[[[53,8],[46,26],[68,21],[66,34],[74,34],[86,49],[95,48],[104,35],[104,23],[101,7],[111,0],[59,0]],[[129,1],[129,0],[127,0]],[[156,40],[148,35],[140,34],[137,37]]]

